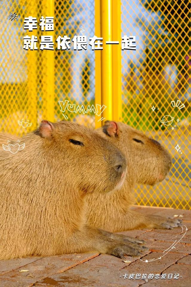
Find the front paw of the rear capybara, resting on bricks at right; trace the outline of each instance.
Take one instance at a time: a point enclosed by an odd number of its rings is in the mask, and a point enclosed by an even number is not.
[[[173,229],[182,226],[181,219],[171,219],[161,216],[152,216],[153,227],[157,229]]]

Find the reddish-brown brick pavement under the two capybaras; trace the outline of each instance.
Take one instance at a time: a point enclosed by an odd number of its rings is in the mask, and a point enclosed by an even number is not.
[[[184,227],[184,231],[182,228],[175,228],[173,230],[143,229],[122,232],[122,234],[139,237],[147,242],[149,251],[144,252],[141,257],[144,262],[137,257],[128,256],[126,260],[130,262],[124,263],[119,258],[96,253],[2,260],[0,261],[0,286],[190,286],[191,211],[156,207],[134,207],[134,209],[141,213],[172,218],[175,214],[183,215],[181,219],[184,220],[184,225],[188,230],[185,233]],[[185,236],[178,242],[184,233]],[[175,248],[170,249],[174,242],[178,243]],[[162,257],[165,250],[169,252]],[[158,259],[160,257],[161,259]],[[156,260],[150,261],[152,259]],[[28,271],[19,272],[23,269]],[[130,276],[133,279],[129,279]]]

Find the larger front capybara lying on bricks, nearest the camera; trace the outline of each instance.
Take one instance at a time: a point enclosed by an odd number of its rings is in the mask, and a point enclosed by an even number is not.
[[[143,240],[86,225],[85,196],[120,188],[125,178],[126,160],[112,143],[75,123],[43,120],[19,144],[25,147],[14,154],[0,152],[0,259],[73,252],[124,258],[146,249],[137,244]]]

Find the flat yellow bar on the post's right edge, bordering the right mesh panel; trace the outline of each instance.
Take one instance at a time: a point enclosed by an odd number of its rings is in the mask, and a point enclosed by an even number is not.
[[[121,1],[112,0],[112,26],[113,41],[119,41],[119,45],[113,45],[113,120],[122,118],[122,73],[121,73]]]

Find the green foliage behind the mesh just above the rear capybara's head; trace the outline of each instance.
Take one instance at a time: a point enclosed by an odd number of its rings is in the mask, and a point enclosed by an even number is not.
[[[176,99],[176,95],[159,94],[157,99],[155,95],[145,97],[143,94],[133,96],[131,93],[125,93],[126,104],[122,105],[122,118],[125,123],[135,128],[146,131],[150,130],[164,130],[166,126],[162,125],[161,120],[164,115],[170,115],[175,118],[175,121],[180,121],[184,118],[190,117],[190,104],[185,101],[184,110],[172,107],[171,98]],[[183,102],[182,102],[183,103]],[[154,112],[152,106],[155,106]],[[161,126],[162,125],[162,126]]]

